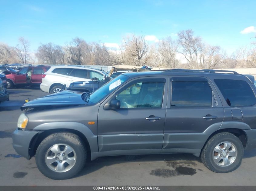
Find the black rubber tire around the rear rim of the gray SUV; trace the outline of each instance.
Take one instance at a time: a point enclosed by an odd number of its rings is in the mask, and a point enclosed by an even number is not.
[[[219,166],[214,162],[214,156],[213,156],[214,149],[218,144],[222,142],[232,143],[237,150],[236,158],[228,166]],[[237,169],[241,165],[243,155],[244,155],[244,147],[241,141],[239,140],[239,138],[231,133],[221,132],[211,137],[209,141],[206,143],[206,145],[204,146],[201,152],[201,161],[208,169],[210,169],[213,172],[228,173]],[[227,156],[225,153],[225,157]]]

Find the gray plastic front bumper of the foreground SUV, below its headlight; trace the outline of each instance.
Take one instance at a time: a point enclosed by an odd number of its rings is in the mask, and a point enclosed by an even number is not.
[[[12,132],[12,146],[14,150],[29,160],[31,158],[29,156],[30,145],[37,134],[38,131],[16,129]]]

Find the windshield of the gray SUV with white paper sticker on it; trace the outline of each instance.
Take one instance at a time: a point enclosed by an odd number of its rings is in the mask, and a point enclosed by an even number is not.
[[[102,98],[104,98],[109,93],[113,92],[118,86],[123,84],[125,81],[127,81],[129,77],[126,75],[119,75],[118,77],[114,78],[113,80],[109,81],[108,83],[104,84],[99,88],[98,90],[94,91],[90,95],[89,102],[97,103]]]

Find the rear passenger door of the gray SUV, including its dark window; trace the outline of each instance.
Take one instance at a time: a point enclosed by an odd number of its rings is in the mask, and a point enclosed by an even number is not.
[[[206,129],[221,126],[224,109],[211,81],[204,77],[170,77],[163,151],[201,149]]]

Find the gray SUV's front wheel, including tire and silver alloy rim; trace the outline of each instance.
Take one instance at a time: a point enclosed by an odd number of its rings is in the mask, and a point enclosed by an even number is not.
[[[38,146],[35,160],[46,177],[63,180],[75,176],[85,165],[86,148],[72,133],[54,133]]]

